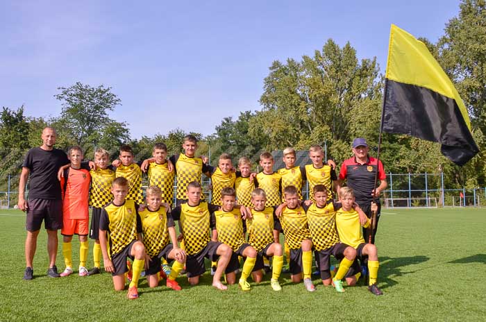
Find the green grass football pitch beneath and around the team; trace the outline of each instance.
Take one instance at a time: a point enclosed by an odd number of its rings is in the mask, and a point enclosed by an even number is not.
[[[486,210],[384,210],[377,236],[383,296],[360,283],[337,294],[315,280],[317,291],[292,285],[272,291],[269,276],[248,293],[201,285],[184,276],[176,292],[139,285],[140,298],[112,289],[111,276],[47,278],[46,234],[39,237],[34,280],[24,272],[24,214],[0,212],[1,321],[484,321],[486,319]],[[78,243],[73,245],[78,262]],[[87,266],[92,266],[92,244]],[[59,271],[64,269],[58,255]],[[75,264],[76,266],[76,264]]]

